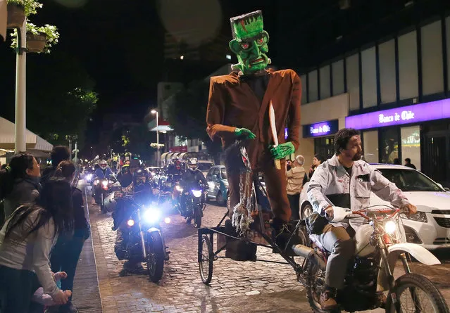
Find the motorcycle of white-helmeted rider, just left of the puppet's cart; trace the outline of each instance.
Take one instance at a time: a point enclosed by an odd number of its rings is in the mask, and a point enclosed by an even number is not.
[[[204,201],[204,186],[197,184],[196,188],[191,189],[183,187],[178,184],[175,189],[180,192],[180,214],[185,217],[187,224],[190,224],[194,220],[194,226],[199,228],[201,226],[201,218],[203,217],[203,211],[206,204]]]

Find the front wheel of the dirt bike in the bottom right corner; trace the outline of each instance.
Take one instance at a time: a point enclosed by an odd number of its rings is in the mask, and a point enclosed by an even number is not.
[[[400,312],[449,313],[439,289],[425,276],[405,274],[395,281],[396,299]],[[386,302],[386,312],[395,313],[395,304],[389,295]]]

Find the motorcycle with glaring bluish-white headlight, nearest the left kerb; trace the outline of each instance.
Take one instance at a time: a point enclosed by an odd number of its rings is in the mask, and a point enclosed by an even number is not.
[[[130,205],[132,212],[127,217],[127,227],[123,230],[124,240],[127,243],[126,259],[140,260],[147,265],[147,273],[154,283],[161,280],[164,270],[164,262],[169,260],[170,251],[164,243],[161,231],[161,220],[170,224],[170,217],[157,206],[140,205],[130,195],[115,192],[115,201],[126,201],[124,205]]]

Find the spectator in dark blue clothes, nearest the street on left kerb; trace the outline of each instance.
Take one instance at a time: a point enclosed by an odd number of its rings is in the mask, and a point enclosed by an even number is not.
[[[55,177],[62,177],[70,185],[75,179],[75,165],[70,160],[59,163]],[[50,264],[52,272],[65,272],[67,277],[61,281],[63,290],[73,290],[75,270],[85,240],[89,238],[89,223],[85,217],[85,205],[80,189],[72,187],[73,201],[73,236],[59,236],[54,249],[51,251]],[[68,302],[59,307],[59,313],[75,313],[77,308],[72,303],[72,295]]]

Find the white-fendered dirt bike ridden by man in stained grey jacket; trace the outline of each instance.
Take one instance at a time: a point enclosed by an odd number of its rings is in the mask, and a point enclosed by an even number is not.
[[[425,300],[428,299],[430,312],[449,313],[444,297],[432,281],[420,274],[411,273],[407,254],[427,265],[440,262],[422,246],[406,243],[399,218],[401,213],[401,210],[384,205],[357,211],[334,207],[333,221],[363,217],[365,223],[358,227],[354,236],[356,253],[346,269],[344,288],[337,290],[339,308],[331,311],[320,306],[330,253],[320,245],[318,235],[311,232],[308,232],[308,245],[292,247],[296,255],[304,257],[303,264],[296,272],[298,280],[306,287],[313,312],[337,313],[341,309],[355,312],[377,307],[385,307],[386,312],[427,312],[424,308]],[[306,228],[308,229],[308,223]],[[394,279],[394,267],[399,258],[406,274]],[[385,290],[388,290],[387,299],[383,296]],[[408,304],[412,304],[412,308],[406,308]]]

